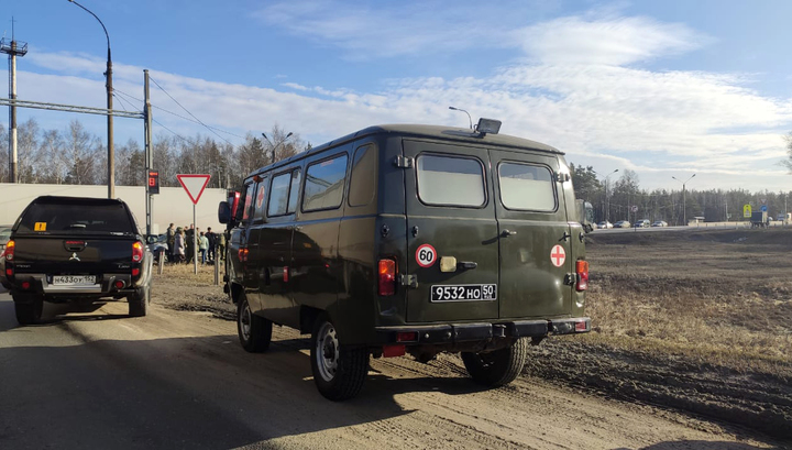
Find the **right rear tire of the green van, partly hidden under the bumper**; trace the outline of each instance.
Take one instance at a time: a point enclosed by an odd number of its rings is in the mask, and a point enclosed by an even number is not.
[[[462,362],[474,382],[498,387],[512,383],[528,360],[528,340],[520,338],[512,347],[492,352],[462,352]]]

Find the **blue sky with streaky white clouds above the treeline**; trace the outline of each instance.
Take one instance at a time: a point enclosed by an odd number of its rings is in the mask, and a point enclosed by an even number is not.
[[[274,124],[312,144],[376,123],[466,127],[453,105],[602,174],[632,169],[647,188],[678,189],[671,176],[693,173],[694,189],[792,185],[777,165],[792,130],[789,1],[80,3],[110,33],[119,91],[142,98],[147,68],[234,144]],[[0,0],[0,11],[6,36],[13,15],[30,45],[20,99],[105,105],[94,18],[67,0]],[[186,116],[156,86],[152,97]],[[20,111],[29,117],[45,129],[78,118],[105,136],[100,117]],[[117,143],[142,141],[140,122],[116,123]]]

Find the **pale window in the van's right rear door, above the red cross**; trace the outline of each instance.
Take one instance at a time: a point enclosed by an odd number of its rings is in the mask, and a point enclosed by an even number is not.
[[[552,179],[552,172],[544,166],[501,163],[501,201],[508,209],[554,211],[556,190]]]

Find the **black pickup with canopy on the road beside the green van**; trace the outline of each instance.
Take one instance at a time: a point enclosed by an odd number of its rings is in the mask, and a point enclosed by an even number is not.
[[[125,298],[130,316],[145,316],[152,262],[123,201],[45,196],[16,219],[0,256],[0,282],[21,325],[38,320],[44,301]]]

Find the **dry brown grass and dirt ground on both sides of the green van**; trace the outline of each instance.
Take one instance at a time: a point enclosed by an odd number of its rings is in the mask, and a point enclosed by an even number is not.
[[[593,332],[534,348],[524,378],[792,442],[790,255],[789,229],[594,232]],[[199,268],[167,265],[155,301],[233,320],[213,267]]]

